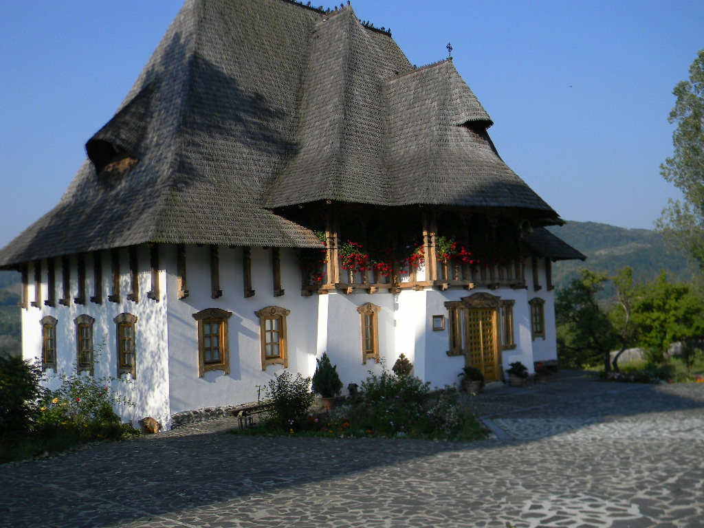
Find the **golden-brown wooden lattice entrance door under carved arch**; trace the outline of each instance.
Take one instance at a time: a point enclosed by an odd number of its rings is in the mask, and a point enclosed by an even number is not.
[[[465,363],[484,373],[486,381],[496,379],[495,310],[477,308],[465,310]]]

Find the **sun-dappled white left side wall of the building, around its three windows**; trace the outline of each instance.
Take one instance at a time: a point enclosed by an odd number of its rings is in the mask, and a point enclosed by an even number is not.
[[[45,315],[51,315],[56,323],[56,372],[47,369],[46,386],[56,389],[60,384],[58,375],[75,372],[77,363],[76,325],[75,318],[79,315],[89,315],[95,319],[93,325],[94,338],[94,375],[96,377],[115,377],[117,375],[117,340],[116,325],[113,319],[120,313],[131,313],[137,316],[135,325],[135,349],[137,351],[137,377],[123,376],[127,382],[113,380],[107,382],[111,388],[122,396],[130,398],[134,406],[118,406],[115,410],[123,420],[137,420],[151,416],[157,420],[168,420],[170,415],[168,401],[168,348],[166,340],[166,282],[163,272],[160,273],[161,298],[158,302],[146,298],[146,292],[151,290],[151,272],[149,268],[149,250],[146,246],[139,247],[139,302],[127,301],[130,292],[129,261],[127,250],[120,251],[120,302],[108,301],[111,294],[112,275],[111,260],[108,251],[102,256],[102,293],[103,302],[90,302],[94,293],[94,275],[92,256],[85,256],[86,268],[86,303],[77,305],[73,299],[77,296],[77,271],[75,256],[71,257],[70,305],[58,304],[58,298],[63,294],[61,259],[55,259],[56,265],[56,306],[44,306],[48,297],[48,275],[46,260],[42,262],[42,306],[30,306],[22,311],[23,358],[40,359],[42,355],[42,327],[40,320]],[[29,298],[34,300],[34,270],[30,266]]]

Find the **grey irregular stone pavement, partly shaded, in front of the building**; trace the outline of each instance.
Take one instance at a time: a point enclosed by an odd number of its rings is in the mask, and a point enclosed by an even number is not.
[[[232,419],[0,466],[1,527],[704,527],[704,384],[470,396],[472,444],[226,434]]]

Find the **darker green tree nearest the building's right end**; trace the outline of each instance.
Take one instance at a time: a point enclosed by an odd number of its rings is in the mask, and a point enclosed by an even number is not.
[[[579,275],[555,298],[560,360],[577,368],[601,361],[604,370],[610,372],[610,353],[619,340],[606,310],[597,301],[608,277],[586,268],[579,270]]]

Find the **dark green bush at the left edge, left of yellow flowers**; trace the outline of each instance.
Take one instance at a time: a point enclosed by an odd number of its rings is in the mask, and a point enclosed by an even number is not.
[[[0,356],[0,431],[29,429],[44,394],[42,367],[14,356]]]

